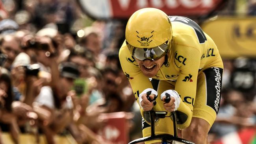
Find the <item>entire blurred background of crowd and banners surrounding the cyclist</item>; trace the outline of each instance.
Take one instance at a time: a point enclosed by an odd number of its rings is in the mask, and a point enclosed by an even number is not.
[[[256,0],[0,0],[0,144],[127,144],[141,115],[118,59],[143,7],[191,18],[223,58],[211,144],[256,144]]]

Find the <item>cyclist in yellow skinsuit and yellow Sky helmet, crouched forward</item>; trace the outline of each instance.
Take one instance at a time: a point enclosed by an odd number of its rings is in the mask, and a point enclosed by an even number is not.
[[[168,17],[155,8],[136,11],[128,20],[125,38],[119,59],[141,107],[143,137],[150,136],[144,111],[177,110],[182,138],[208,143],[207,135],[219,110],[223,73],[213,40],[193,20]],[[157,91],[150,78],[159,80]],[[147,100],[148,91],[151,100],[156,98],[156,105]],[[164,103],[167,94],[171,101]],[[155,131],[173,134],[171,118],[159,119]]]

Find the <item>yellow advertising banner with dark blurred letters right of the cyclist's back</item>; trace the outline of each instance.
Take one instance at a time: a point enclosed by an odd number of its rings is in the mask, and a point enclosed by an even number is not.
[[[201,25],[217,45],[221,57],[256,57],[256,18],[213,18]]]

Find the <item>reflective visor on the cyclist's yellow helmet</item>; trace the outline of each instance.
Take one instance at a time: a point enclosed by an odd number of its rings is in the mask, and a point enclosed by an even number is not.
[[[130,45],[126,41],[126,45],[130,50],[130,53],[136,58],[141,61],[145,59],[149,59],[151,61],[156,61],[163,57],[169,51],[171,42],[170,40],[166,41],[165,43],[161,44],[160,46],[156,46],[154,48],[136,48]]]

